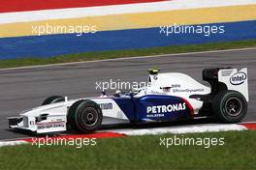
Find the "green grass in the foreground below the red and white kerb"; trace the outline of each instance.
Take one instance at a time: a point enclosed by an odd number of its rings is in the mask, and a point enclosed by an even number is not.
[[[182,135],[176,135],[182,137]],[[174,134],[98,139],[95,146],[0,148],[0,169],[256,169],[256,131],[184,134],[220,138],[224,146],[160,146]]]

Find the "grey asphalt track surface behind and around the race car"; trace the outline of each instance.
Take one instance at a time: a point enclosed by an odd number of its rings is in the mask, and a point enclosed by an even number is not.
[[[40,105],[49,96],[99,96],[96,82],[146,81],[150,68],[184,72],[207,84],[202,80],[202,70],[215,67],[248,68],[250,101],[243,121],[256,121],[256,48],[252,48],[0,70],[0,139],[26,136],[9,130],[6,118]]]

